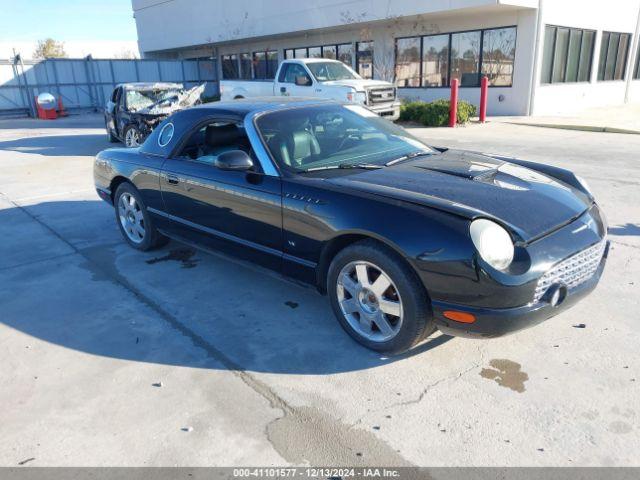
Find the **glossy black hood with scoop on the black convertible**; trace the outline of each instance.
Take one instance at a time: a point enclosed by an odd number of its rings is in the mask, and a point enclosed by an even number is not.
[[[525,242],[571,222],[591,205],[583,192],[553,177],[460,150],[326,181],[469,219],[493,218]]]

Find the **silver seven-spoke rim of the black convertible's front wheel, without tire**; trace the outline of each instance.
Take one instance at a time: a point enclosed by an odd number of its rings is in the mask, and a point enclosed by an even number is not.
[[[402,327],[398,289],[378,266],[364,261],[345,265],[337,279],[340,310],[349,325],[367,340],[387,342]]]

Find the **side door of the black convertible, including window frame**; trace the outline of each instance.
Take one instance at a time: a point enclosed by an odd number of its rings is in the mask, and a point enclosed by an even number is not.
[[[219,145],[222,150],[211,154],[201,152],[206,129],[228,123],[243,132],[237,142]],[[189,135],[181,151],[165,161],[160,175],[165,210],[173,220],[174,234],[280,270],[280,177],[265,173],[242,123],[230,122],[228,118],[209,119]],[[253,170],[221,170],[215,166],[216,153],[236,147],[247,150],[253,157]]]

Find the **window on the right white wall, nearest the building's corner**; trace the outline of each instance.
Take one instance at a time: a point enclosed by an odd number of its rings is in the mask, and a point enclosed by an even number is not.
[[[591,78],[593,30],[547,25],[541,83],[588,82]]]

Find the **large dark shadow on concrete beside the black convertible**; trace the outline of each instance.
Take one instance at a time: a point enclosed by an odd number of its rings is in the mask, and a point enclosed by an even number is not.
[[[6,208],[0,228],[0,323],[90,355],[324,375],[382,367],[452,338],[435,333],[387,358],[354,342],[313,288],[173,241],[132,249],[101,201]]]

